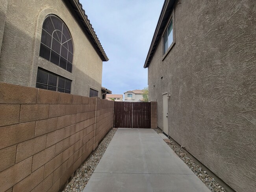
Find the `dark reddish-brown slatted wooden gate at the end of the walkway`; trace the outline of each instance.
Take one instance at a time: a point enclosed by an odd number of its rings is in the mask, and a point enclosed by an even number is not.
[[[115,102],[115,128],[150,128],[150,102]]]

